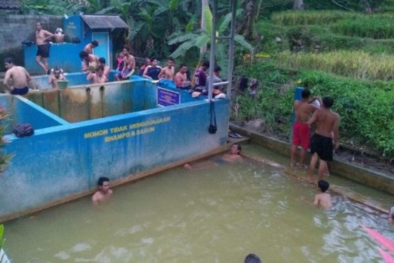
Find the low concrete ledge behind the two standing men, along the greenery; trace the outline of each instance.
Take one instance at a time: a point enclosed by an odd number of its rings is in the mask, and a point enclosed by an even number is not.
[[[251,138],[253,144],[261,145],[278,154],[290,157],[290,144],[288,144],[288,142],[280,141],[278,139],[253,132],[235,124],[230,124],[229,128],[231,131],[248,136]],[[308,154],[308,159],[310,159],[310,154]],[[330,170],[337,176],[347,178],[351,181],[356,181],[371,188],[382,190],[385,193],[394,194],[393,176],[377,171],[372,171],[368,168],[355,166],[354,164],[346,163],[335,158],[330,164]]]

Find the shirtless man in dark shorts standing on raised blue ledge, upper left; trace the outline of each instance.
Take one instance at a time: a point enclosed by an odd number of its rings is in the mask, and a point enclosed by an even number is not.
[[[43,68],[45,74],[50,74],[48,67],[49,48],[50,43],[48,41],[53,38],[53,33],[43,30],[41,23],[35,23],[35,44],[37,45],[37,55],[35,56],[35,62]],[[43,60],[43,61],[41,61]]]

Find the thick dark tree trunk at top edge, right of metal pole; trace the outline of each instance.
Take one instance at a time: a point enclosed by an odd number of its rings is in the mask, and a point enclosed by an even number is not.
[[[263,0],[242,0],[243,19],[237,28],[237,33],[248,40],[253,40],[257,33],[255,30],[261,2]]]

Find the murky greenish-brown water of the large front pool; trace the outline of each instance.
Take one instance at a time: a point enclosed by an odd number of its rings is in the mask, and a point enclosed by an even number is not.
[[[13,262],[383,262],[361,224],[394,239],[378,213],[267,166],[175,168],[114,188],[106,205],[89,198],[6,223]]]

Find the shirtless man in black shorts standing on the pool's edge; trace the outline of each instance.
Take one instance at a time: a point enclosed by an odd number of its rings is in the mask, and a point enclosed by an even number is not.
[[[314,112],[312,118],[307,122],[312,125],[316,122],[316,130],[312,136],[310,144],[310,183],[314,183],[314,168],[319,161],[319,181],[322,180],[324,172],[327,171],[327,161],[332,161],[334,149],[339,147],[339,115],[331,111],[334,104],[332,97],[324,97],[322,108]],[[332,142],[332,132],[334,133],[334,145]]]

